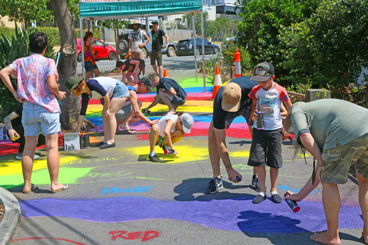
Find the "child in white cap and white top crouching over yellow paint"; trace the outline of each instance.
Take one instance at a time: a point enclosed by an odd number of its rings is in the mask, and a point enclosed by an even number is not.
[[[165,149],[173,151],[173,155],[177,155],[174,143],[178,142],[184,133],[189,134],[193,125],[193,117],[188,113],[179,112],[175,115],[167,115],[159,119],[157,124],[151,126],[148,133],[150,141],[149,160],[152,162],[160,162],[156,156],[154,146],[159,145]]]

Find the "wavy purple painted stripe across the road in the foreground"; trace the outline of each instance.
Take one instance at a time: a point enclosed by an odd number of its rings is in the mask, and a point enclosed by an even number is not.
[[[321,203],[300,202],[293,213],[283,201],[267,199],[252,204],[253,195],[207,202],[157,201],[140,197],[95,200],[39,199],[20,202],[24,217],[59,216],[93,222],[127,222],[142,219],[175,219],[203,226],[242,232],[298,233],[326,230]],[[363,227],[359,207],[341,206],[339,228]]]

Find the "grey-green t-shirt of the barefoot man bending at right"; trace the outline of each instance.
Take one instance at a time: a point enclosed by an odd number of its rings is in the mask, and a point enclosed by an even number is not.
[[[296,137],[311,133],[320,151],[344,145],[368,133],[368,109],[353,103],[323,99],[293,108],[291,123]]]

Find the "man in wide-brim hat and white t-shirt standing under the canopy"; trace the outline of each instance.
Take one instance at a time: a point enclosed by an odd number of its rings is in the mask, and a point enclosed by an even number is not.
[[[143,47],[149,42],[150,38],[147,33],[140,28],[142,28],[142,24],[139,20],[135,19],[132,24],[129,25],[129,29],[133,29],[133,31],[129,32],[129,53],[131,54],[131,59],[141,59],[144,60]],[[143,42],[143,37],[146,38],[146,41]],[[145,69],[142,69],[143,75],[145,74]]]

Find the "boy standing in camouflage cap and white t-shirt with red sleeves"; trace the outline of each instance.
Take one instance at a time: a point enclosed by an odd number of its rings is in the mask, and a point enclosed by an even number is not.
[[[266,200],[266,165],[270,167],[271,199],[274,203],[281,203],[282,199],[277,193],[279,168],[282,167],[281,104],[284,102],[290,109],[291,101],[285,88],[273,81],[275,76],[271,63],[263,62],[255,68],[255,74],[250,77],[250,80],[258,81],[259,85],[255,86],[248,95],[253,100],[251,118],[256,120],[253,126],[248,165],[258,167],[260,192],[253,199],[253,203]],[[256,112],[262,112],[263,126],[261,127],[257,123],[262,120],[261,115],[257,115]]]

